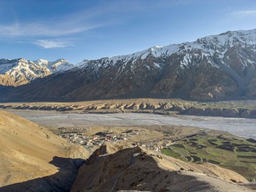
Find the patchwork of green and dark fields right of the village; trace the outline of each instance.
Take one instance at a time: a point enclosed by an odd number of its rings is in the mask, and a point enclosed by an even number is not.
[[[218,164],[249,181],[256,180],[256,143],[240,137],[202,132],[175,141],[162,153],[189,162]]]

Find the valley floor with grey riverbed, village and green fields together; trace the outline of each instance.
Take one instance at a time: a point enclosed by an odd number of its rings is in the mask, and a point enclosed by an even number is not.
[[[216,164],[249,181],[256,179],[254,119],[5,110],[47,127],[69,143],[83,146],[90,154],[105,143],[139,146],[158,152],[158,156],[165,154],[193,164]],[[232,181],[237,182],[236,179]]]

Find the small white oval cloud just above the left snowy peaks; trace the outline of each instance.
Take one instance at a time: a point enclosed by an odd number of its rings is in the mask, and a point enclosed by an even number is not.
[[[36,40],[34,44],[44,49],[54,49],[54,48],[63,48],[66,46],[72,46],[72,44],[69,42],[65,42],[61,40],[47,40],[47,39]]]

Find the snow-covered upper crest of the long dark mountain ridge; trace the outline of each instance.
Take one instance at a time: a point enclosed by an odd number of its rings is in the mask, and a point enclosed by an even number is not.
[[[191,57],[214,57],[218,55],[219,59],[222,60],[226,51],[232,46],[245,45],[255,46],[256,44],[256,29],[254,30],[238,30],[234,32],[225,32],[218,35],[205,36],[199,38],[194,42],[184,42],[181,44],[169,44],[167,46],[152,46],[150,49],[139,51],[129,55],[119,55],[114,57],[103,57],[98,60],[84,60],[80,64],[80,67],[88,67],[88,64],[95,65],[94,67],[108,67],[122,63],[126,65],[129,61],[133,64],[138,59],[146,59],[148,55],[152,55],[155,58],[164,59],[170,57],[170,55],[176,53],[184,55],[182,65],[189,65],[188,60]],[[254,48],[256,49],[256,48]],[[195,55],[191,55],[191,52],[198,52]],[[221,61],[222,62],[222,61]],[[224,63],[224,62],[222,62]],[[213,64],[218,67],[217,65]]]

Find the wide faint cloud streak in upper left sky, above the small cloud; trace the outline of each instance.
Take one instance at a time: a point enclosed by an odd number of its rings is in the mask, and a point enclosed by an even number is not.
[[[46,18],[35,22],[15,21],[9,24],[0,24],[0,38],[67,36],[86,32],[107,26],[108,21],[96,20],[106,12],[104,9],[84,10],[56,15],[55,18]]]

